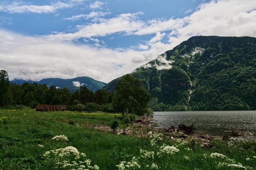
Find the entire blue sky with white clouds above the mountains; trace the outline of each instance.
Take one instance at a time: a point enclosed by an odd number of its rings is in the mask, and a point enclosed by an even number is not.
[[[256,0],[0,0],[10,80],[108,83],[197,35],[256,37]]]

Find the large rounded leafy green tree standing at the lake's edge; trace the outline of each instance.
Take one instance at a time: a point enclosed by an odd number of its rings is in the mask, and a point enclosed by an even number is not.
[[[116,112],[124,114],[126,109],[136,115],[144,115],[148,108],[150,94],[139,79],[127,74],[115,86],[112,104]]]

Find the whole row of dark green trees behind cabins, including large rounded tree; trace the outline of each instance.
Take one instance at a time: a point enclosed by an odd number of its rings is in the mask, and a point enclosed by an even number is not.
[[[47,87],[46,84],[12,84],[7,71],[0,71],[0,106],[25,105],[35,108],[37,104],[63,104],[68,110],[134,113],[143,115],[148,111],[150,94],[139,79],[125,75],[115,86],[115,92],[104,88],[95,93],[81,86],[70,93],[68,88]]]

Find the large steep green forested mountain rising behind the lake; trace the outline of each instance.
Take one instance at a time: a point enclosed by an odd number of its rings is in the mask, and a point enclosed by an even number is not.
[[[256,38],[196,36],[131,73],[159,110],[255,110]],[[104,88],[113,91],[119,79]]]

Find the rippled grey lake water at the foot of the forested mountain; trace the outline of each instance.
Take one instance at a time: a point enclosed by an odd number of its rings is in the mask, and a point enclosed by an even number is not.
[[[154,112],[154,120],[161,128],[195,123],[196,131],[214,136],[226,135],[229,128],[256,132],[256,110],[253,111],[184,111]]]

